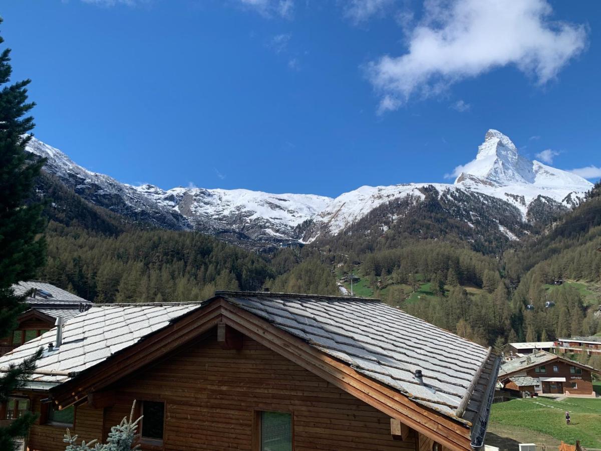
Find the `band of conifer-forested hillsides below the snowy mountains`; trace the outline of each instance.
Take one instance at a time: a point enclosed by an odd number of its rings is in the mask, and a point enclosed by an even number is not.
[[[523,229],[527,238],[519,242],[499,234],[513,210],[480,219],[492,233],[474,235],[469,221],[458,219],[461,212],[448,214],[457,203],[430,193],[418,204],[395,200],[411,217],[389,217],[386,229],[378,224],[398,205],[383,204],[356,225],[368,233],[353,234],[353,226],[302,249],[260,256],[201,233],[133,222],[49,175],[39,183],[49,221],[48,263],[39,277],[94,302],[181,302],[216,289],[262,287],[332,295],[350,289],[353,274],[356,294],[380,297],[483,345],[601,332],[600,185],[544,232]],[[469,200],[461,203],[469,210]]]

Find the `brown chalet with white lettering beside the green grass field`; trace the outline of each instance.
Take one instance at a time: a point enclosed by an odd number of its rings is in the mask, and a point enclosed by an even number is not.
[[[595,396],[591,374],[601,371],[545,351],[505,362],[499,382],[507,390]]]

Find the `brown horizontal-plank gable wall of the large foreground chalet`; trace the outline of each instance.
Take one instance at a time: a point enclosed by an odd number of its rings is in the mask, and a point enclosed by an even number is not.
[[[251,450],[255,410],[293,413],[295,451],[415,450],[415,433],[394,440],[390,417],[244,337],[221,349],[215,330],[186,351],[116,388],[104,434],[133,399],[166,402],[164,446],[144,450]]]

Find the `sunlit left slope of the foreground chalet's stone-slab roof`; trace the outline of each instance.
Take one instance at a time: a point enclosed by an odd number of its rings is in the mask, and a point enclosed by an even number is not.
[[[0,367],[21,361],[41,347],[44,348],[44,354],[38,360],[38,373],[32,376],[32,381],[58,385],[201,305],[200,302],[94,304],[90,310],[64,325],[60,349],[48,349],[49,343],[55,343],[54,328],[0,357]],[[55,375],[41,374],[42,372],[55,372]]]

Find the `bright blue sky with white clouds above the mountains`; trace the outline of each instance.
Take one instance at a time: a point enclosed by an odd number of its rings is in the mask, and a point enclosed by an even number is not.
[[[122,182],[449,181],[489,128],[601,177],[601,2],[3,3],[35,135]]]

